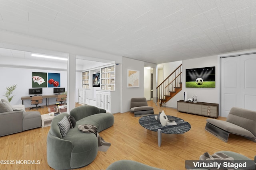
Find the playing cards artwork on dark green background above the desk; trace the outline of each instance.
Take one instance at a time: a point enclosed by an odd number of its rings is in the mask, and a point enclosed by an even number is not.
[[[32,87],[47,87],[47,73],[46,72],[32,72]]]

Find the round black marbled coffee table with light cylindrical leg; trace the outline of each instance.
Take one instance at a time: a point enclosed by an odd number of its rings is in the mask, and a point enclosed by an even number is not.
[[[156,115],[147,115],[140,117],[139,123],[142,127],[158,133],[158,147],[160,147],[162,143],[162,133],[182,134],[191,129],[191,125],[187,121],[170,115],[167,115],[168,119],[173,119],[177,125],[162,126],[161,123],[158,123],[155,116]]]

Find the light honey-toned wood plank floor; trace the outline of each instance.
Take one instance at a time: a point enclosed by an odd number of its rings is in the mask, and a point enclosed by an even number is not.
[[[148,104],[158,108],[153,102]],[[76,106],[79,106],[77,104]],[[28,109],[29,110],[29,109]],[[48,107],[38,109],[48,113]],[[111,143],[107,152],[98,152],[96,159],[79,170],[104,170],[117,160],[135,160],[166,170],[184,170],[185,160],[198,160],[204,152],[213,154],[229,150],[251,159],[256,155],[256,143],[237,135],[230,135],[228,143],[204,130],[206,119],[198,115],[180,113],[176,109],[164,108],[166,115],[180,117],[191,124],[184,134],[162,134],[162,145],[158,147],[157,132],[149,131],[138,123],[140,117],[130,112],[114,114],[114,125],[100,136]],[[224,117],[218,119],[225,120]],[[15,164],[0,164],[0,170],[51,170],[47,164],[46,141],[50,127],[36,128],[21,133],[0,137],[0,160],[14,160]],[[16,161],[39,160],[40,164],[16,164]]]

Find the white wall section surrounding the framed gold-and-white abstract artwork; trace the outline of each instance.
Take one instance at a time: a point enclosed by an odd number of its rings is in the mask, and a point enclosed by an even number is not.
[[[140,71],[140,87],[127,87],[127,69]],[[144,97],[144,62],[123,57],[122,60],[122,89],[121,113],[130,111],[131,98]]]

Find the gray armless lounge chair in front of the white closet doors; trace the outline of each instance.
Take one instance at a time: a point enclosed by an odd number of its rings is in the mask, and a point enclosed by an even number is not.
[[[226,121],[206,119],[205,130],[224,142],[230,133],[244,136],[256,142],[256,111],[232,107]]]

